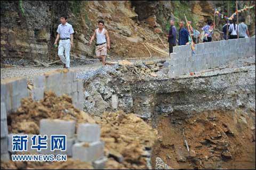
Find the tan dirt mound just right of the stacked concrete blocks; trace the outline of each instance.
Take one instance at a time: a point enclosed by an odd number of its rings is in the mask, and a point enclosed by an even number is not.
[[[134,114],[124,114],[123,111],[105,113],[97,123],[101,125],[105,154],[124,158],[124,167],[113,162],[106,168],[147,168],[143,155],[145,148],[153,147],[156,140],[157,132],[153,128]]]

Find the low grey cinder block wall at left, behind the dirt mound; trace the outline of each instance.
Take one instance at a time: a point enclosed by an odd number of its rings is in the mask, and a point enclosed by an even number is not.
[[[72,97],[74,106],[83,110],[83,83],[82,80],[76,79],[76,72],[60,69],[36,76],[34,88],[30,92],[32,98],[42,99],[44,91],[47,90],[53,91],[58,96],[68,94]],[[17,111],[21,106],[21,99],[28,97],[29,90],[25,77],[1,80],[1,161],[9,160],[7,115]]]

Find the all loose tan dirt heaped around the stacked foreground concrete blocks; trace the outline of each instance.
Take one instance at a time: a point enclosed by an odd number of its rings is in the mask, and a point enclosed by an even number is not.
[[[102,119],[95,122],[84,111],[76,109],[69,96],[57,97],[49,91],[45,92],[44,98],[38,102],[31,98],[22,99],[18,111],[9,115],[9,132],[39,134],[39,121],[43,118],[76,120],[77,123],[98,123],[101,125],[101,140],[105,141],[105,155],[109,157],[106,163],[107,169],[147,168],[145,149],[153,147],[157,133],[134,114],[126,115],[123,111],[105,113]],[[121,163],[116,160],[117,158],[120,158]],[[86,168],[85,164],[75,163],[71,158],[68,160],[67,163],[26,163],[22,166],[43,169]],[[1,164],[1,168],[18,168],[18,166],[12,162]]]

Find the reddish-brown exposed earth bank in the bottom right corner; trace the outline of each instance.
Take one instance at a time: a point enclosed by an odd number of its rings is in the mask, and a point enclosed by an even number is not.
[[[161,157],[175,169],[255,169],[255,112],[209,111],[186,119],[173,114],[162,118],[158,132],[153,165]]]

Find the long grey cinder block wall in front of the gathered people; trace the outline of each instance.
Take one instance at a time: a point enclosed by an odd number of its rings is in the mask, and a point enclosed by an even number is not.
[[[195,47],[194,55],[190,45],[173,47],[173,53],[167,60],[170,78],[189,72],[218,68],[229,61],[255,55],[255,37],[200,43]]]

